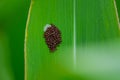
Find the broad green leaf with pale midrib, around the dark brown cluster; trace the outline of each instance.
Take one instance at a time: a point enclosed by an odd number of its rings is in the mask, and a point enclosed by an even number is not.
[[[120,31],[114,0],[32,0],[25,37],[25,80],[118,80]],[[44,39],[56,25],[62,43]]]

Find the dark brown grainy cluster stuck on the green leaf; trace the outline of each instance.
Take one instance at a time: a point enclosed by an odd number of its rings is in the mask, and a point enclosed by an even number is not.
[[[60,30],[51,24],[44,32],[45,42],[51,52],[54,52],[57,46],[62,42]]]

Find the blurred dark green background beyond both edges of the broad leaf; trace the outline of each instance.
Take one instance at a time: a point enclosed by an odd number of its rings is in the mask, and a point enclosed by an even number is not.
[[[120,0],[116,0],[120,17]],[[24,80],[24,34],[30,0],[0,0],[0,80]]]

